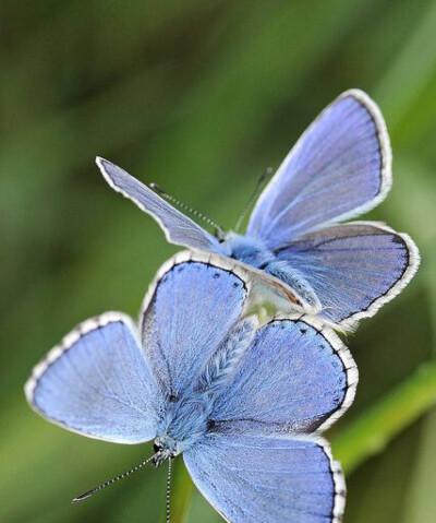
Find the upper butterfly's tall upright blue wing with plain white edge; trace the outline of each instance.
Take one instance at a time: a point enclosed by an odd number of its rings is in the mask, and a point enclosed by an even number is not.
[[[343,93],[300,138],[261,195],[247,234],[270,249],[377,205],[391,185],[383,116],[361,91]]]

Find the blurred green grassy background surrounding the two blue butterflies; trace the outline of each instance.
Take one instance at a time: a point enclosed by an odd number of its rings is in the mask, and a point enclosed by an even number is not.
[[[436,521],[436,2],[0,4],[0,521],[161,522],[165,471],[70,499],[149,455],[45,423],[22,387],[78,321],[136,316],[175,249],[104,182],[106,156],[230,228],[258,175],[349,87],[382,106],[395,182],[371,217],[423,263],[349,337],[358,399],[329,435],[349,523]],[[220,518],[175,466],[174,523]]]

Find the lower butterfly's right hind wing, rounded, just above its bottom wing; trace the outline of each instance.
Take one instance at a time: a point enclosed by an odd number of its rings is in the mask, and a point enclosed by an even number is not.
[[[351,354],[330,330],[276,319],[258,330],[211,419],[232,433],[324,430],[352,403],[356,382]]]

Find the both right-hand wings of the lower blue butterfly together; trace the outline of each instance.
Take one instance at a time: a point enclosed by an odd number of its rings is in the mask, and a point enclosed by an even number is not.
[[[276,319],[259,329],[209,432],[184,452],[198,489],[232,523],[339,522],[344,483],[324,440],[351,404],[358,370],[330,331]]]

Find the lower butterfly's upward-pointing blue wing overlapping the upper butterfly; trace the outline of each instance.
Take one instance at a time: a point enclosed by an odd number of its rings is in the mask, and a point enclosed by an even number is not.
[[[238,321],[250,283],[238,268],[223,269],[226,260],[218,257],[221,266],[199,253],[173,260],[145,300],[142,336],[159,382],[178,396],[197,381]]]

